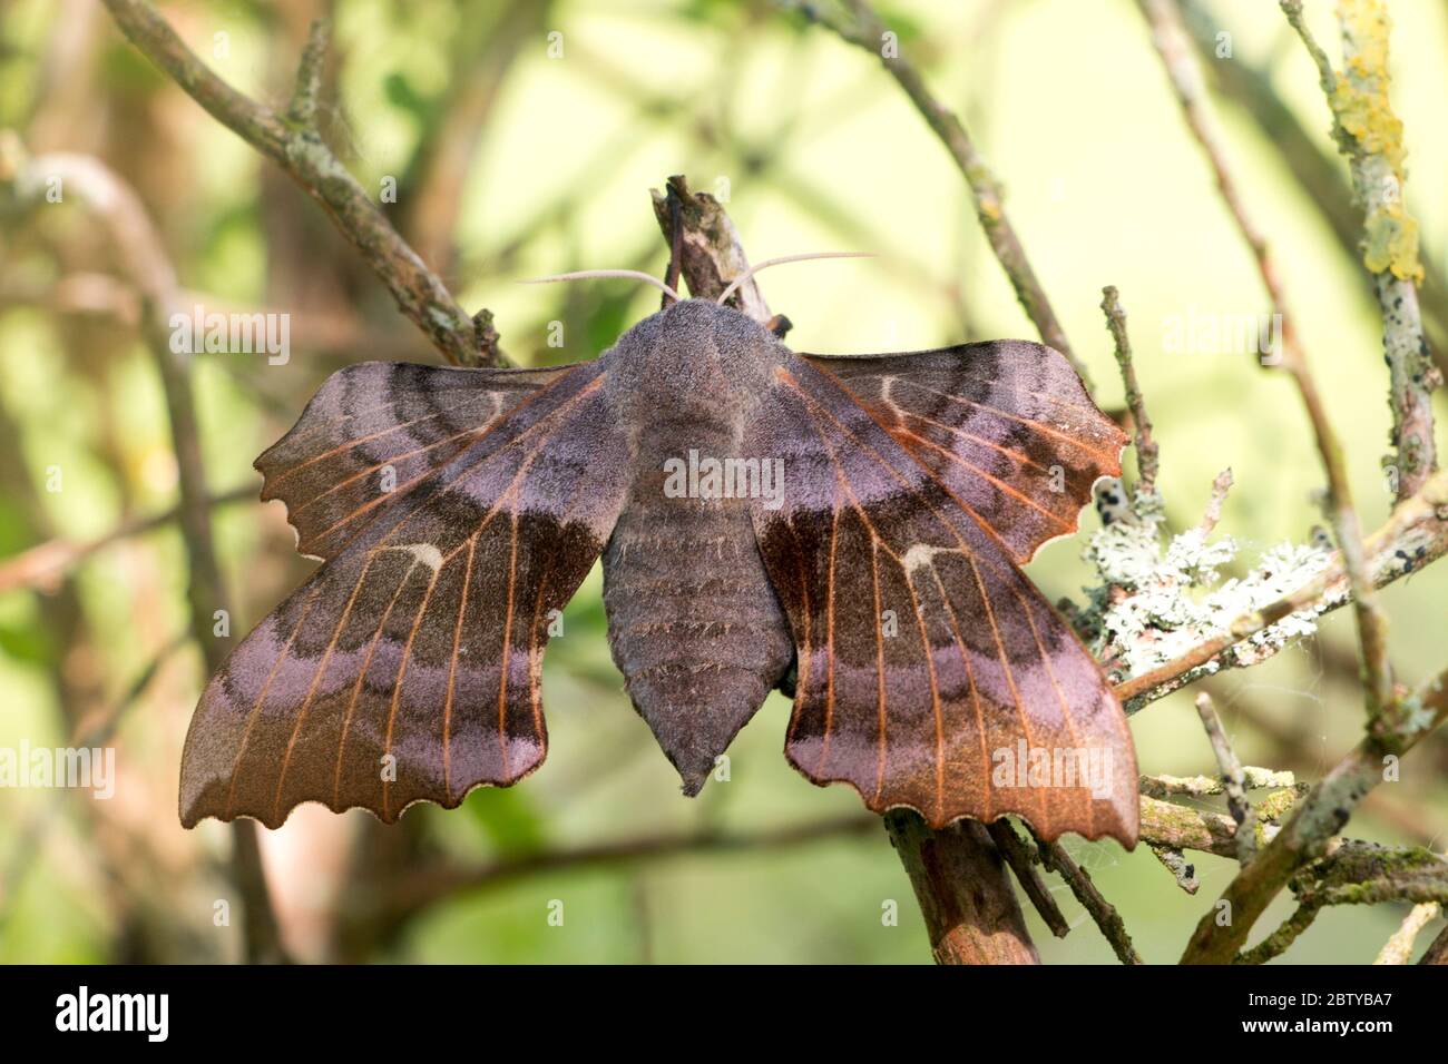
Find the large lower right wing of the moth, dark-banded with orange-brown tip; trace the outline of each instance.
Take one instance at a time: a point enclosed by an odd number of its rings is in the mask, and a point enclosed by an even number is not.
[[[908,372],[891,369],[896,381]],[[982,401],[1006,411],[1014,395]],[[753,515],[799,656],[789,760],[934,827],[1011,812],[1043,838],[1132,845],[1137,770],[1121,705],[1012,562],[1025,537],[1012,547],[1012,530],[992,527],[1002,511],[973,512],[980,497],[963,466],[927,466],[804,358],[778,371],[752,436],[785,462],[785,505]]]

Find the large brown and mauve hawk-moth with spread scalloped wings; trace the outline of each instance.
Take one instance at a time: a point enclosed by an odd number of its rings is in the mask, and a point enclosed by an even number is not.
[[[728,292],[665,291],[592,362],[323,384],[256,459],[323,565],[207,685],[182,824],[394,821],[518,782],[550,622],[601,556],[614,660],[685,793],[792,682],[785,753],[818,785],[1134,845],[1121,705],[1019,567],[1121,472],[1066,359],[801,355]]]

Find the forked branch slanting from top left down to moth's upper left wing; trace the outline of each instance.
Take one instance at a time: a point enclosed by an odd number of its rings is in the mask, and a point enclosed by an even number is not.
[[[126,38],[217,122],[281,166],[326,207],[340,233],[387,285],[398,308],[439,352],[459,366],[497,365],[492,316],[469,317],[447,287],[332,153],[316,129],[319,71],[326,23],[313,25],[285,114],[237,93],[219,78],[145,0],[104,0]]]

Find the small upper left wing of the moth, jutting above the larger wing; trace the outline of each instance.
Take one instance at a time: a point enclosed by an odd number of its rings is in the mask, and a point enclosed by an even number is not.
[[[256,459],[297,550],[336,557],[408,489],[571,368],[447,369],[363,362],[326,379],[291,431]]]

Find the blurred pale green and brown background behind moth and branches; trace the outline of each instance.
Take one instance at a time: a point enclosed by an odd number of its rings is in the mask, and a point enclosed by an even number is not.
[[[1276,4],[1190,0],[1241,191],[1266,230],[1329,414],[1348,447],[1365,528],[1389,512],[1387,375],[1376,303],[1354,250],[1347,168],[1316,69]],[[1337,61],[1331,4],[1310,23]],[[1448,324],[1448,4],[1393,0],[1393,104],[1420,223],[1425,318]],[[308,22],[330,16],[321,129],[459,303],[495,314],[504,349],[547,365],[594,358],[657,308],[627,281],[520,287],[585,268],[662,275],[649,200],[669,174],[724,201],[752,259],[853,249],[762,276],[788,343],[908,350],[1035,339],[985,243],[951,161],[876,58],[770,3],[712,0],[295,0],[167,3],[164,16],[230,84],[275,107]],[[290,314],[291,358],[200,355],[201,452],[233,631],[243,636],[310,570],[252,459],[334,369],[436,363],[385,290],[287,177],[219,126],[125,42],[96,0],[0,6],[0,127],[25,151],[98,156],[161,232],[181,285],[209,308]],[[1321,521],[1322,475],[1286,378],[1183,323],[1267,303],[1129,0],[882,4],[899,46],[956,109],[1006,190],[1037,274],[1098,397],[1121,405],[1100,288],[1121,290],[1161,444],[1171,518],[1195,523],[1212,478],[1235,473],[1221,531],[1239,565]],[[1218,58],[1222,38],[1228,56]],[[559,36],[560,35],[560,36]],[[187,562],[165,515],[177,459],[139,298],[80,206],[0,214],[0,747],[116,750],[109,801],[0,789],[0,960],[178,961],[242,955],[230,829],[177,821],[181,741],[206,666],[188,633]],[[565,343],[549,346],[549,323]],[[1176,332],[1174,332],[1176,330]],[[1439,405],[1439,415],[1442,407]],[[56,482],[55,470],[59,470]],[[1082,601],[1083,533],[1037,557],[1053,601]],[[77,547],[84,550],[77,552]],[[298,809],[259,832],[297,958],[403,961],[896,961],[930,958],[883,829],[847,788],[817,789],[782,756],[778,693],[736,740],[731,779],[698,799],[621,689],[598,572],[544,669],[552,748],[510,789],[445,814]],[[1392,659],[1418,682],[1445,664],[1448,567],[1383,602]],[[1355,741],[1363,709],[1352,621],[1211,689],[1250,764],[1315,780]],[[1213,773],[1190,692],[1132,719],[1142,772]],[[1363,838],[1448,845],[1448,741],[1431,740],[1354,816]],[[1203,808],[1216,808],[1200,802]],[[778,832],[783,831],[783,835]],[[704,841],[696,841],[704,837]],[[720,844],[710,840],[734,840]],[[689,841],[695,840],[695,841]],[[1140,847],[1069,840],[1148,961],[1171,961],[1235,863],[1192,854],[1183,893]],[[1056,882],[1056,880],[1053,880]],[[1111,961],[1074,899],[1076,931],[1028,921],[1047,961]],[[898,903],[896,925],[882,919]],[[550,921],[562,902],[563,921]],[[1258,925],[1274,926],[1280,898]],[[1405,906],[1325,912],[1286,961],[1373,958]],[[1435,925],[1436,926],[1436,925]],[[1423,937],[1423,942],[1431,934]]]

